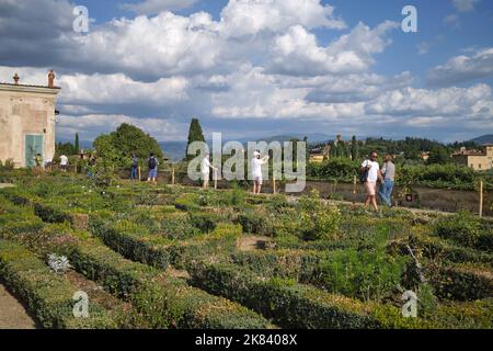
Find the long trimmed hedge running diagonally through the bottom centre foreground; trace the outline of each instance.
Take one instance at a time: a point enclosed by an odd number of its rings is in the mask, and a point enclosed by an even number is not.
[[[191,268],[192,284],[251,307],[285,328],[381,328],[411,326],[400,310],[324,293],[286,280],[262,280],[234,264],[199,263]],[[391,320],[385,320],[389,316]],[[416,325],[414,325],[416,327]]]

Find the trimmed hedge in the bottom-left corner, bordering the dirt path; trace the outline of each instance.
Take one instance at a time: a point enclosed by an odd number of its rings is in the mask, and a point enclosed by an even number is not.
[[[106,310],[91,302],[89,317],[72,314],[79,288],[51,272],[36,256],[18,244],[0,239],[0,275],[44,328],[119,328],[123,310]]]

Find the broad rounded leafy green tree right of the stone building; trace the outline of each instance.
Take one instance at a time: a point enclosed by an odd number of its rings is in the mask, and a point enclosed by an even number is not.
[[[116,132],[100,135],[93,143],[98,157],[118,167],[128,167],[130,155],[136,152],[142,160],[153,152],[158,159],[162,158],[162,149],[158,141],[138,127],[123,123]]]

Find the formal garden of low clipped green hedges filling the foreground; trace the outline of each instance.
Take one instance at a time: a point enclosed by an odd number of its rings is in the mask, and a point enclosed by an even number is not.
[[[492,327],[493,225],[467,213],[377,215],[317,193],[15,179],[0,190],[2,281],[44,327]],[[54,273],[49,253],[72,269]],[[80,288],[92,292],[93,319],[68,313]],[[62,298],[34,302],[51,290]],[[417,318],[401,315],[408,290]]]

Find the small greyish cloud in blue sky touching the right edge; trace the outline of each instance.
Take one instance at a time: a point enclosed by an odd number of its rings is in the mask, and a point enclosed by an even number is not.
[[[470,56],[461,55],[445,65],[432,69],[427,75],[431,86],[451,86],[493,75],[493,47],[479,49]]]

